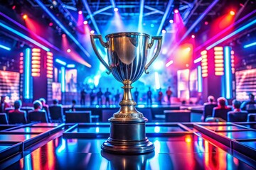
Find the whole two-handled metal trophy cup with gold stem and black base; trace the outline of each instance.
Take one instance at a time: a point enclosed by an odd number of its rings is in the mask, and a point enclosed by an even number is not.
[[[102,144],[102,150],[118,154],[144,154],[154,151],[153,143],[146,137],[146,118],[136,110],[136,102],[132,98],[132,83],[142,76],[149,74],[147,69],[156,60],[161,50],[162,37],[152,37],[145,33],[113,33],[102,40],[101,35],[90,35],[96,56],[107,68],[107,74],[112,73],[117,81],[124,86],[124,95],[119,103],[119,111],[114,113],[110,121],[110,137]],[[102,59],[95,45],[95,39],[107,48],[108,64]],[[157,40],[157,48],[151,61],[146,64],[149,49]]]

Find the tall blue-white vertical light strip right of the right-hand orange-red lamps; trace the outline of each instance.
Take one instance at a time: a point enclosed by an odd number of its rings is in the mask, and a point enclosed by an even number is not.
[[[225,97],[231,98],[231,63],[230,63],[230,47],[224,47],[224,65],[225,65]]]

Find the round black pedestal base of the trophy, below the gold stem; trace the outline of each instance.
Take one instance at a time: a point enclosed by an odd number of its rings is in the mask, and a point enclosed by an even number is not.
[[[110,118],[110,137],[102,144],[102,150],[112,154],[145,154],[154,152],[145,132],[145,118],[122,120]]]

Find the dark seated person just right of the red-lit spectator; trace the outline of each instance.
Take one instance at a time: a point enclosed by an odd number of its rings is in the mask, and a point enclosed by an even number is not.
[[[246,122],[248,112],[240,109],[241,102],[233,100],[232,103],[234,110],[228,112],[228,122]]]

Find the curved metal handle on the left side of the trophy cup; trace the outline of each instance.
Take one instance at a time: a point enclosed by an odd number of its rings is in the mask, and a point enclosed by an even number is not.
[[[109,45],[107,44],[107,42],[104,42],[102,40],[102,35],[90,35],[90,40],[92,42],[92,48],[93,50],[95,51],[95,54],[97,56],[97,58],[100,60],[100,62],[106,67],[107,69],[107,74],[110,74],[111,73],[111,68],[110,66],[102,59],[102,57],[100,56],[100,53],[98,52],[97,48],[96,48],[96,45],[95,45],[95,39],[99,39],[100,40],[100,44],[107,48],[109,47]]]

